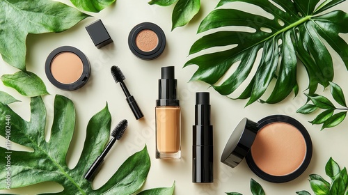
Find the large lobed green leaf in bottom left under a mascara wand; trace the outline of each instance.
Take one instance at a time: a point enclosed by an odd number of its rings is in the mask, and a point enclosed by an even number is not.
[[[111,115],[106,107],[93,116],[87,126],[86,140],[81,157],[74,169],[66,164],[75,124],[74,104],[68,98],[56,95],[51,138],[45,141],[46,109],[40,96],[31,98],[30,121],[22,119],[10,107],[0,103],[0,121],[10,116],[11,141],[33,149],[33,152],[11,152],[11,188],[24,187],[39,182],[54,181],[64,187],[55,194],[133,194],[141,188],[150,170],[150,157],[146,147],[129,157],[120,169],[100,189],[92,189],[84,173],[102,152],[109,139]],[[5,123],[0,128],[5,129]],[[5,131],[0,131],[5,136]],[[38,163],[39,162],[39,163]],[[1,161],[0,173],[5,173]],[[6,178],[0,178],[0,189],[6,189]]]

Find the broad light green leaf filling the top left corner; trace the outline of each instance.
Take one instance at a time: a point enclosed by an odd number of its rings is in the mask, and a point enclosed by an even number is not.
[[[61,32],[89,15],[56,1],[0,1],[0,53],[3,61],[26,70],[26,36]]]

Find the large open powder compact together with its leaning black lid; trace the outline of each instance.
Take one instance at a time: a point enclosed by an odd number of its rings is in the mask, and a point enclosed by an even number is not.
[[[245,157],[257,176],[279,183],[301,176],[312,153],[306,128],[290,116],[274,115],[258,123],[244,118],[232,132],[221,162],[234,168]]]

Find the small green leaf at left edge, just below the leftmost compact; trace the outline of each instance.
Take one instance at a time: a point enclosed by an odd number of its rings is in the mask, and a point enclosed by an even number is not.
[[[33,72],[18,71],[13,75],[2,75],[1,81],[5,86],[14,88],[21,95],[34,97],[49,94],[44,82]]]

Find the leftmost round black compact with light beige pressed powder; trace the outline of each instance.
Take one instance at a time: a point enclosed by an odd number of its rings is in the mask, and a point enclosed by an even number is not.
[[[45,72],[54,86],[72,91],[86,84],[90,76],[90,64],[79,49],[63,46],[49,54]]]

